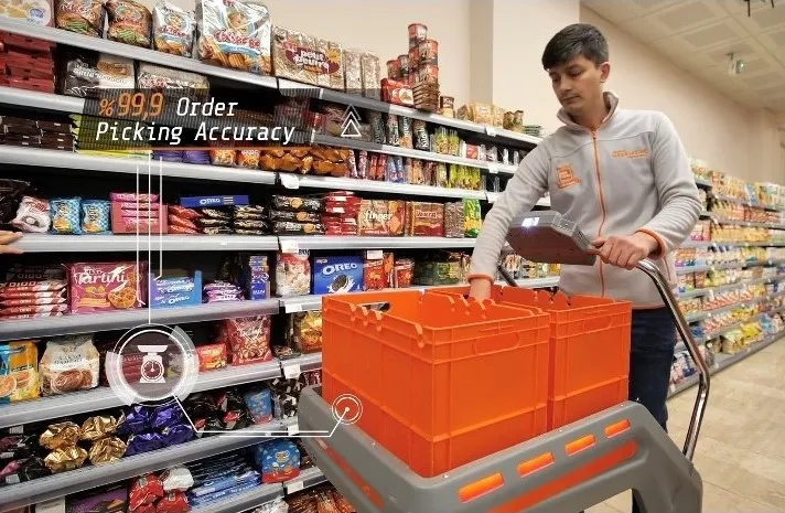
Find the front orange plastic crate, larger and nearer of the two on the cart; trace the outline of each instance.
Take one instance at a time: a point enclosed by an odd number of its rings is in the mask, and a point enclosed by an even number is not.
[[[418,290],[329,296],[322,396],[357,396],[358,427],[433,477],[547,431],[548,322]]]

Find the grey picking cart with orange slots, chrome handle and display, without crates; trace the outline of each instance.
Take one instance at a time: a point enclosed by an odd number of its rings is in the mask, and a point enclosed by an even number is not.
[[[507,241],[530,261],[593,265],[589,241],[557,212],[517,218]],[[692,464],[709,395],[709,372],[657,266],[637,268],[657,287],[699,372],[684,449],[644,406],[625,402],[450,472],[422,478],[354,425],[303,438],[309,453],[359,513],[573,513],[633,490],[644,513],[700,513],[702,480]],[[503,272],[509,285],[512,277]],[[303,391],[300,429],[335,426],[320,387]]]

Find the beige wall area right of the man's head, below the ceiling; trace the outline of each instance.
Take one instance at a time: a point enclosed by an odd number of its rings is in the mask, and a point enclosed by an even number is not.
[[[581,22],[596,25],[611,50],[607,87],[622,106],[663,110],[691,156],[746,180],[785,183],[774,116],[751,111],[637,42],[595,12],[581,8]]]

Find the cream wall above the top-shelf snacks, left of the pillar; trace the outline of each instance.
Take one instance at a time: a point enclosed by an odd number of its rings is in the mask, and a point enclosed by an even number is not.
[[[194,0],[170,0],[194,10]],[[142,0],[153,8],[157,0]],[[439,42],[441,94],[454,96],[456,105],[470,100],[469,0],[261,0],[277,25],[370,51],[381,61],[409,52],[410,23],[428,25],[428,36]]]

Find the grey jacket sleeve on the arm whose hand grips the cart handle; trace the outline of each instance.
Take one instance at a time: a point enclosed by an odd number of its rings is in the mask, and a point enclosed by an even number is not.
[[[702,211],[687,151],[665,115],[660,115],[654,133],[652,160],[660,211],[638,232],[657,241],[658,249],[653,256],[663,257],[685,242]]]

